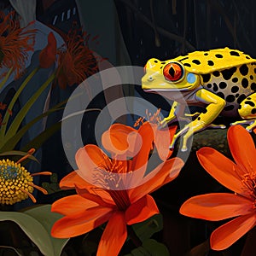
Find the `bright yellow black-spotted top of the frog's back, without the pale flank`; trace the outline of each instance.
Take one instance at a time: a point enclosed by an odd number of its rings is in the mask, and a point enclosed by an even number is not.
[[[256,63],[251,56],[237,49],[210,49],[207,51],[194,51],[188,55],[178,56],[173,61],[183,63],[190,73],[206,74],[221,71],[242,64]]]

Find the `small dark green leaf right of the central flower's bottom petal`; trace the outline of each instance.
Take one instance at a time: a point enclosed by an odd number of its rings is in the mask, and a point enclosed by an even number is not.
[[[133,224],[132,227],[140,240],[146,241],[163,229],[163,217],[161,214],[156,214],[141,223]]]

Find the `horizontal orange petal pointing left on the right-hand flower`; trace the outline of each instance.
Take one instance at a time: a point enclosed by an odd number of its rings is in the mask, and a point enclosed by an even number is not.
[[[222,220],[253,211],[253,202],[230,193],[197,195],[185,201],[179,212],[192,218]]]

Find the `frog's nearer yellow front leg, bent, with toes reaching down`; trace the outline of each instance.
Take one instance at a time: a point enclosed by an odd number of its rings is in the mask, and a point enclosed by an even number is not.
[[[197,102],[207,104],[207,112],[201,113],[194,121],[190,122],[189,125],[185,125],[181,131],[178,131],[172,139],[170,148],[174,147],[174,143],[178,137],[185,134],[183,136],[182,151],[187,151],[187,142],[189,137],[191,137],[195,132],[201,131],[207,128],[208,125],[211,125],[212,121],[218,117],[218,114],[221,113],[226,104],[224,99],[205,89],[196,91],[195,100]]]

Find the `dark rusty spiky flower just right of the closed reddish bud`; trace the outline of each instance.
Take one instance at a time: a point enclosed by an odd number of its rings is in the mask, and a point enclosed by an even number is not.
[[[65,45],[57,50],[59,57],[55,84],[58,82],[61,89],[80,84],[97,72],[97,60],[88,47],[88,40],[85,32],[73,29],[68,32]]]

